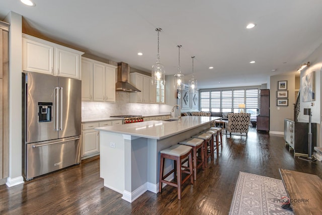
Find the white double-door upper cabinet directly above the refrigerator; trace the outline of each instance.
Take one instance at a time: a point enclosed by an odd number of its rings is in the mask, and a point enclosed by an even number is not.
[[[23,70],[81,79],[84,52],[23,34]]]

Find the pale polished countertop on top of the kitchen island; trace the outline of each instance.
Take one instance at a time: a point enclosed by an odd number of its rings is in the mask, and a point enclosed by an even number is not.
[[[210,121],[216,120],[218,118],[220,117],[183,116],[181,121],[152,120],[123,125],[98,127],[95,129],[99,131],[127,134],[152,139],[163,139],[174,134],[178,134],[200,125],[209,123]]]

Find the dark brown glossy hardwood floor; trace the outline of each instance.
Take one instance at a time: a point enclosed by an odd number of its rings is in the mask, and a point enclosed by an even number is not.
[[[281,179],[283,168],[322,178],[322,163],[294,158],[281,135],[251,128],[248,138],[227,136],[197,181],[184,184],[182,200],[175,187],[166,186],[162,193],[147,191],[133,203],[124,201],[103,186],[94,157],[21,185],[0,186],[0,214],[228,214],[239,171]]]

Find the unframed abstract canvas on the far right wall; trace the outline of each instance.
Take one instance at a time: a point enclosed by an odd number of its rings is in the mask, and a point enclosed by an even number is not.
[[[301,87],[302,101],[315,101],[315,71],[302,78]]]

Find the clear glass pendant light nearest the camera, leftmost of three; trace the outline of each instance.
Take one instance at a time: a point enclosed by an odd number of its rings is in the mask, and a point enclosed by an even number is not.
[[[165,67],[160,63],[160,55],[159,55],[159,33],[162,31],[160,28],[156,28],[157,31],[157,55],[156,55],[156,63],[152,65],[152,85],[165,85],[166,82],[166,70]]]

